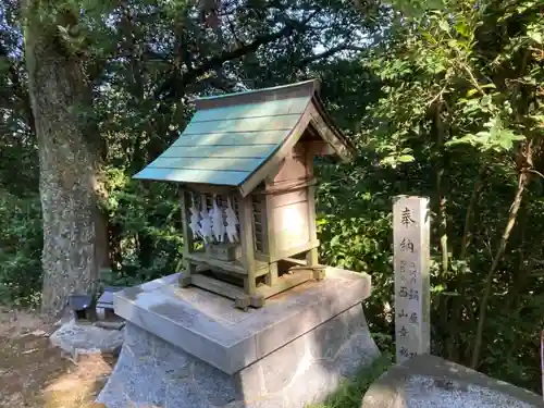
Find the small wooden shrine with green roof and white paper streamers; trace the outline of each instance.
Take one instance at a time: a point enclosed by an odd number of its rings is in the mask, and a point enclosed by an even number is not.
[[[135,178],[180,184],[182,287],[262,307],[318,263],[313,158],[353,145],[323,109],[318,81],[196,100],[180,138]]]

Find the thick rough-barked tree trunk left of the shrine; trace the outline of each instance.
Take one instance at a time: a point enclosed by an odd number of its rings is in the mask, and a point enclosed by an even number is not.
[[[62,44],[57,24],[66,23],[42,23],[47,18],[42,18],[46,11],[40,7],[45,8],[35,0],[24,5],[25,57],[40,165],[41,308],[55,314],[71,293],[96,288],[99,269],[107,259],[107,228],[97,206],[100,138],[87,114],[91,98],[83,61]],[[74,20],[73,14],[58,16],[69,17]]]

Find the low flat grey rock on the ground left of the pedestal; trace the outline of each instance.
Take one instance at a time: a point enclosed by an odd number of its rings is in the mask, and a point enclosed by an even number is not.
[[[123,344],[123,331],[78,325],[74,320],[62,324],[49,337],[51,344],[77,357],[78,355],[115,353]]]

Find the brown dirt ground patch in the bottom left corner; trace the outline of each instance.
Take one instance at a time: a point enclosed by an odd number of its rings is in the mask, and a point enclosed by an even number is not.
[[[103,407],[94,400],[115,361],[97,356],[75,364],[51,346],[53,331],[36,313],[0,308],[0,407]]]

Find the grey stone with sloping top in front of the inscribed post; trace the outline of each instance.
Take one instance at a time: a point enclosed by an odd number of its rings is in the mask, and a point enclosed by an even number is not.
[[[534,408],[542,396],[430,355],[394,366],[368,390],[361,408]]]

